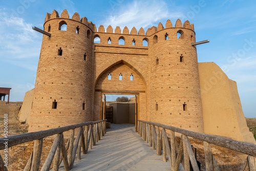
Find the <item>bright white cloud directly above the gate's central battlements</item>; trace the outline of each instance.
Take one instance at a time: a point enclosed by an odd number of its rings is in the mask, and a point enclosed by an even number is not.
[[[116,26],[120,26],[123,29],[125,26],[131,31],[133,27],[136,27],[137,31],[141,27],[151,27],[161,19],[169,19],[168,17],[183,17],[180,12],[170,13],[168,11],[167,4],[164,1],[142,1],[135,0],[130,4],[123,4],[119,7],[119,10],[109,16],[102,22],[104,27],[109,25],[115,30]],[[165,26],[165,23],[162,23]],[[146,31],[146,30],[145,30]]]

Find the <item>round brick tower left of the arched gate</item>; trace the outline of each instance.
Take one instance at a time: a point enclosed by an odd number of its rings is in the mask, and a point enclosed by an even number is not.
[[[91,120],[92,28],[78,13],[47,13],[29,132]]]

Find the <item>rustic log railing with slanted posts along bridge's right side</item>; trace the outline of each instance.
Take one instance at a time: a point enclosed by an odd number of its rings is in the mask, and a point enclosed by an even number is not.
[[[162,131],[160,131],[160,129]],[[170,130],[170,142],[167,138],[165,130]],[[175,132],[181,134],[179,144],[175,138]],[[190,170],[189,161],[191,162],[194,170],[199,170],[196,157],[188,137],[204,142],[205,168],[207,171],[220,170],[214,155],[212,155],[211,144],[216,144],[218,146],[248,155],[241,170],[256,170],[255,144],[183,130],[174,126],[143,120],[138,120],[138,134],[143,138],[144,141],[146,141],[146,143],[148,143],[149,146],[156,149],[157,155],[161,155],[161,150],[163,150],[163,161],[166,162],[166,155],[168,155],[171,170],[178,170],[180,163],[182,163],[185,170]]]

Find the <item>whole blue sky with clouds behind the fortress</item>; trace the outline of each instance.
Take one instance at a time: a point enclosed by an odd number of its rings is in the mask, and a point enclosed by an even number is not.
[[[0,87],[10,87],[11,101],[23,101],[25,92],[34,88],[46,13],[60,14],[67,9],[70,17],[78,12],[98,28],[127,26],[164,26],[167,19],[175,24],[194,23],[197,41],[210,43],[197,46],[198,61],[217,63],[227,76],[237,81],[246,117],[255,117],[256,105],[256,3],[254,0],[225,1],[39,1],[20,0],[0,3]],[[112,100],[112,99],[109,99]]]

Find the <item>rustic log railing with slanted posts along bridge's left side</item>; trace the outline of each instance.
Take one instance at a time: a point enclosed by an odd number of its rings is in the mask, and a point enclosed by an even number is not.
[[[75,129],[79,129],[75,142],[74,134]],[[70,138],[65,146],[65,140],[63,132],[70,130]],[[34,141],[34,150],[27,162],[24,170],[38,170],[40,165],[40,158],[42,152],[42,143],[45,137],[53,136],[56,137],[53,141],[52,147],[48,154],[48,157],[41,168],[42,170],[49,170],[53,162],[53,170],[58,170],[61,161],[65,166],[65,170],[68,171],[73,167],[75,156],[80,160],[81,148],[82,153],[87,154],[88,149],[92,148],[98,140],[106,133],[106,120],[83,122],[79,124],[58,127],[56,129],[38,131],[33,133],[19,134],[8,137],[8,148],[18,144],[22,144],[29,141]],[[5,149],[5,138],[0,138],[0,150]],[[61,156],[60,156],[61,154]],[[3,158],[0,156],[0,170],[7,171],[4,166]]]

